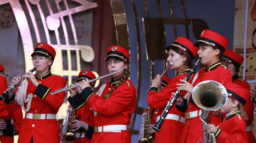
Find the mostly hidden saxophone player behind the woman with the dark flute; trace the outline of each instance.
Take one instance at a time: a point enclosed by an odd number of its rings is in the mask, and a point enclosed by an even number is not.
[[[155,75],[156,77],[157,75]],[[154,77],[154,78],[155,78]],[[169,83],[170,78],[168,76],[163,76],[161,81],[161,87],[158,88],[158,92],[160,92],[162,89],[164,89],[167,84]],[[145,121],[145,115],[147,113],[147,109],[142,114],[142,125],[139,132],[139,140],[144,138],[144,121]],[[159,109],[150,108],[150,114],[151,114],[151,124],[147,125],[147,133],[150,133],[152,135],[151,142],[155,142],[155,133],[156,131],[152,128],[156,124],[156,117],[161,115],[161,112],[159,112]]]

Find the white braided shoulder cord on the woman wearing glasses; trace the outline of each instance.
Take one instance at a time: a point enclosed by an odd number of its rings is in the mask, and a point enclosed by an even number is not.
[[[32,98],[33,98],[32,93],[29,93],[28,98],[26,98],[27,87],[28,87],[28,81],[25,79],[25,80],[22,81],[22,84],[18,88],[17,96],[15,96],[16,102],[18,103],[18,105],[22,106],[22,109],[25,112],[27,112],[30,109],[31,101],[32,101]],[[25,109],[24,103],[28,103],[27,104],[27,109]]]

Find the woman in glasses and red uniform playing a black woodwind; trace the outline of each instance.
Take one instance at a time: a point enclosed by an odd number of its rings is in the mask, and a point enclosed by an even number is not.
[[[36,75],[27,72],[19,89],[12,90],[4,98],[6,110],[15,111],[22,106],[26,112],[19,132],[19,143],[28,142],[59,142],[60,127],[57,112],[63,104],[65,92],[51,95],[57,89],[65,87],[66,80],[51,74],[51,65],[56,52],[46,43],[37,43],[31,54]],[[12,83],[20,77],[15,77]],[[16,87],[17,89],[17,87]],[[15,101],[16,100],[16,101]]]

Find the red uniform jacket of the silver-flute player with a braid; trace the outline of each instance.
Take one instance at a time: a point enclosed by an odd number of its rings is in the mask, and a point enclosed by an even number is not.
[[[119,79],[118,79],[119,80]],[[106,83],[101,97],[94,93],[90,87],[83,89],[80,95],[76,95],[73,98],[69,97],[69,103],[74,107],[77,112],[88,119],[88,109],[87,112],[80,108],[84,104],[87,104],[98,114],[93,117],[95,126],[105,126],[105,125],[130,125],[130,119],[132,112],[135,109],[136,104],[136,90],[132,82],[127,79],[123,84],[121,84],[116,90],[111,94],[110,98],[103,99],[111,89],[116,87],[118,80]],[[86,108],[86,107],[84,107]],[[94,133],[92,136],[92,142],[131,142],[131,135],[128,131],[121,131],[121,133],[114,132],[100,132]]]

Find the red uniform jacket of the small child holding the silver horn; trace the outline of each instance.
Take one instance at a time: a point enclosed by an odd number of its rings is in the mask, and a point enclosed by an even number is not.
[[[248,142],[246,137],[246,123],[239,113],[240,111],[231,113],[220,124],[215,133],[216,142]]]

